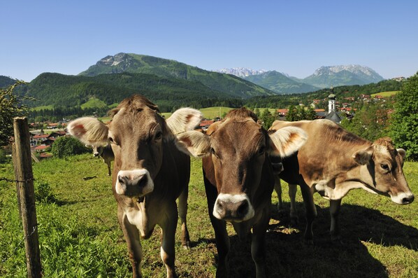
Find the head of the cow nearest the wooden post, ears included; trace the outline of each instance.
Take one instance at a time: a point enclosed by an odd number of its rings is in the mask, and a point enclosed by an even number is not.
[[[113,186],[115,193],[142,197],[154,190],[154,179],[163,160],[164,141],[173,134],[199,125],[202,118],[195,109],[179,109],[169,120],[161,117],[157,106],[140,95],[124,99],[110,111],[108,125],[96,118],[78,118],[68,127],[70,134],[92,146],[110,141],[115,154]]]

